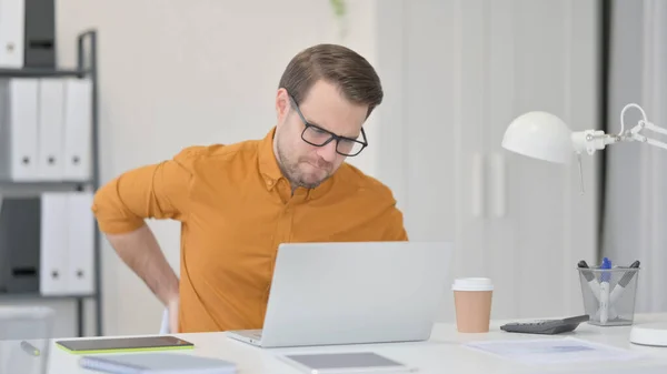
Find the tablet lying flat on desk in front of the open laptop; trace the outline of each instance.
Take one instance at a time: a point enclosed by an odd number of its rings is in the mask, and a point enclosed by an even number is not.
[[[414,373],[416,367],[372,352],[288,354],[283,360],[303,373]]]

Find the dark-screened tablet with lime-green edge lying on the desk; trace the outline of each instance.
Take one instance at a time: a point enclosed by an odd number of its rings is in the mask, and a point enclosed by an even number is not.
[[[58,347],[76,354],[189,350],[195,344],[175,336],[101,337],[57,341]]]

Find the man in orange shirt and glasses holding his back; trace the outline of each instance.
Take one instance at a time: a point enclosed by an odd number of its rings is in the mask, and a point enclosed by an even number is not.
[[[261,328],[280,243],[408,239],[390,190],[345,163],[381,101],[362,57],[315,46],[289,62],[262,140],[187,148],[97,192],[100,230],[168,306],[171,332]],[[181,222],[180,281],[149,218]]]

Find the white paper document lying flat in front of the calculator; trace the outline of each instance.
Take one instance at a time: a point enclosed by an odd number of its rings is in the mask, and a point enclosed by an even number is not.
[[[526,364],[555,364],[584,361],[624,361],[640,357],[639,353],[596,344],[574,337],[542,340],[485,341],[465,344],[504,358]]]

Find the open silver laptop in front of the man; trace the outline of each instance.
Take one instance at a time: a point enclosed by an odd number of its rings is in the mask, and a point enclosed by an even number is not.
[[[260,347],[426,341],[447,294],[448,242],[290,243],[278,247]]]

